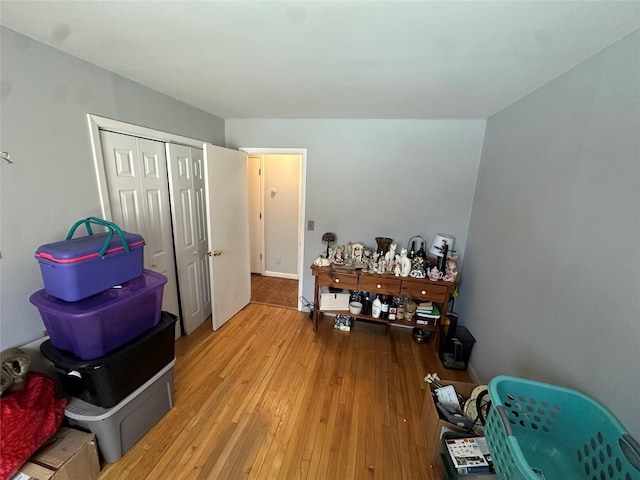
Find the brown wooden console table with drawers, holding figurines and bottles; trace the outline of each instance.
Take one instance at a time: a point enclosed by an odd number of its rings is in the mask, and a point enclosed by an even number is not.
[[[451,295],[456,290],[454,282],[434,282],[428,278],[396,277],[391,274],[362,273],[360,270],[343,270],[333,267],[318,267],[317,265],[311,266],[311,273],[315,278],[313,292],[313,328],[315,331],[318,330],[320,315],[324,313],[348,315],[356,319],[364,319],[386,325],[418,327],[423,330],[433,331],[436,333],[436,337],[440,332],[440,328],[449,324],[447,307]],[[373,318],[371,315],[354,314],[348,310],[320,310],[320,287],[336,287],[344,290],[408,297],[416,301],[416,303],[430,301],[438,305],[440,318],[436,322],[437,325],[434,326],[416,324],[415,318],[413,321],[407,322],[404,319],[386,320]]]

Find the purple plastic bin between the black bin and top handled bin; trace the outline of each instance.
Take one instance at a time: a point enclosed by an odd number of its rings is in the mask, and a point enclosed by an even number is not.
[[[121,287],[79,302],[65,302],[45,290],[29,301],[38,307],[54,347],[93,360],[158,324],[166,282],[164,275],[144,270]]]

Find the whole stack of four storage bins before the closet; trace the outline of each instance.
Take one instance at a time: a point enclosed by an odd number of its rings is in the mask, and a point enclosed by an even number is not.
[[[85,224],[89,235],[72,239]],[[91,224],[109,232],[93,235]],[[117,235],[114,233],[117,232]],[[71,425],[118,460],[173,406],[176,317],[165,276],[143,268],[144,239],[94,217],[36,252],[45,288],[30,297],[49,335],[40,350],[72,396]]]

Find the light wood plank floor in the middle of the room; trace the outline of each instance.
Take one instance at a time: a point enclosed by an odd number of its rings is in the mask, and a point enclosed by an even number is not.
[[[250,304],[176,343],[174,407],[108,479],[437,479],[423,377],[445,370],[411,330],[342,332],[331,317]]]

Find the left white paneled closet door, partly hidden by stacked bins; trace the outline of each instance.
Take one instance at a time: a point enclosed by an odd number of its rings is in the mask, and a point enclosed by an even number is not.
[[[164,143],[105,131],[100,140],[110,220],[144,237],[145,268],[167,277],[162,309],[179,315]]]

